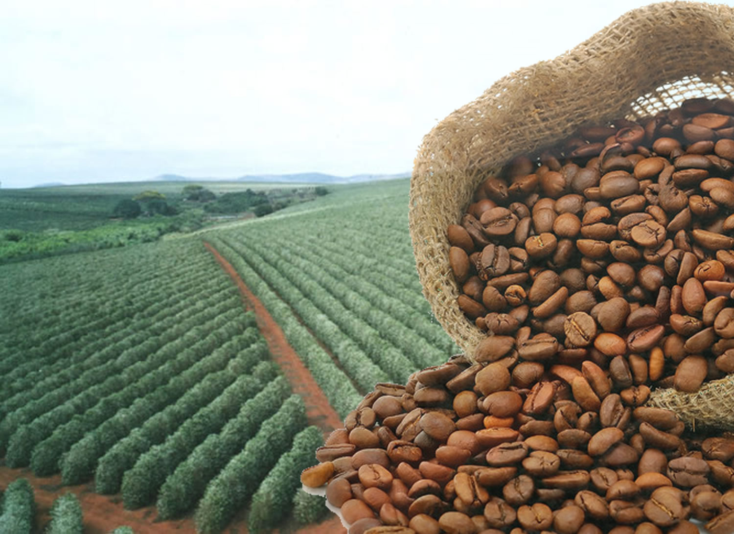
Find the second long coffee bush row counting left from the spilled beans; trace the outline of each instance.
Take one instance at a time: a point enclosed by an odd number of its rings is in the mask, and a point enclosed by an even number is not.
[[[303,400],[292,395],[206,487],[196,512],[197,529],[201,533],[224,529],[305,425]]]

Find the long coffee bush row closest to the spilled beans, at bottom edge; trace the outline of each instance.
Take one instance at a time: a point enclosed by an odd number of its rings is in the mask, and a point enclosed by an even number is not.
[[[283,510],[288,509],[301,486],[301,472],[316,465],[314,451],[322,444],[324,439],[317,427],[311,426],[298,433],[291,450],[278,459],[252,496],[250,515],[247,518],[250,532],[272,529],[283,520]]]

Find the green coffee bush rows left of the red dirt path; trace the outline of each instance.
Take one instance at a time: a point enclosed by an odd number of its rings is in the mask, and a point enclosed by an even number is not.
[[[285,476],[277,502],[258,498],[254,528],[288,516],[300,469],[316,463],[321,430],[303,432],[302,399],[291,394],[254,315],[200,240],[10,264],[0,266],[2,276],[12,281],[7,302],[22,317],[0,326],[5,465],[30,466],[38,476],[60,471],[67,485],[94,480],[99,493],[120,492],[126,508],[157,502],[161,518],[197,508],[212,516],[216,508],[216,521],[200,521],[206,532],[241,516],[261,480]],[[48,326],[59,346],[32,325]],[[355,392],[350,404],[356,400]],[[302,434],[308,439],[294,441]],[[255,475],[225,505],[217,491],[243,451]],[[281,455],[303,467],[284,474]],[[23,532],[21,516],[32,522],[21,505],[32,498],[18,495],[4,499],[0,524],[12,528],[0,533]],[[65,532],[79,519],[71,499],[52,512]],[[302,516],[319,515],[315,502],[302,501]]]

